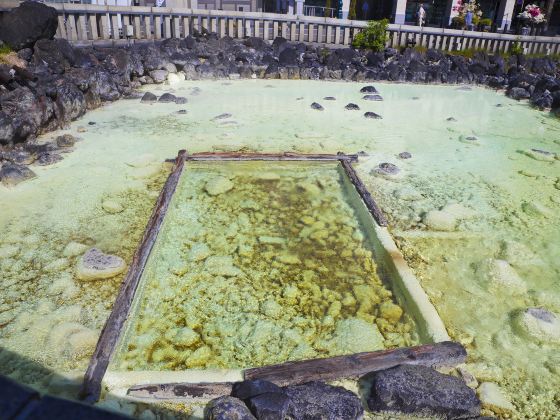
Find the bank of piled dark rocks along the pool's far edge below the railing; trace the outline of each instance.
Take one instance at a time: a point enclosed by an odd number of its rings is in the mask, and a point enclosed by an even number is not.
[[[215,34],[168,39],[127,48],[75,48],[40,38],[31,48],[0,57],[0,159],[39,134],[63,127],[103,102],[136,95],[142,84],[183,78],[387,80],[480,84],[505,89],[540,109],[560,109],[560,66],[552,58],[437,50],[384,52],[327,49],[276,38],[236,41]]]

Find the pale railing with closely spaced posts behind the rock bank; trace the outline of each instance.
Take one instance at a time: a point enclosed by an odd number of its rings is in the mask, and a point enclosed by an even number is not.
[[[13,1],[0,0],[0,10]],[[367,22],[313,16],[260,12],[175,9],[166,7],[97,6],[51,4],[59,13],[57,37],[69,41],[158,40],[183,38],[205,29],[219,36],[250,36],[272,40],[282,36],[291,41],[350,45]],[[560,37],[518,36],[457,29],[389,25],[387,46],[422,46],[441,50],[483,49],[508,51],[518,42],[527,53],[558,54]]]

